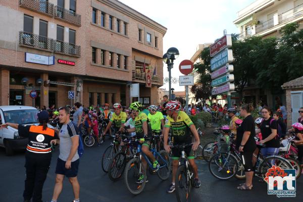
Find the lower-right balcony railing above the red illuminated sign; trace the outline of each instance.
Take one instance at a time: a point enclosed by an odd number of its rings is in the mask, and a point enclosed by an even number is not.
[[[67,43],[59,40],[55,41],[54,52],[61,53],[64,55],[72,55],[75,57],[81,56],[81,47],[72,43]]]

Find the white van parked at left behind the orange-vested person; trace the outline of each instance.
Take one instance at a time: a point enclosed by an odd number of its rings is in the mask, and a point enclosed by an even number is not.
[[[0,122],[38,125],[38,112],[36,108],[28,106],[0,106]],[[13,155],[14,150],[25,149],[27,143],[28,138],[19,136],[17,129],[0,129],[0,146],[5,147],[8,156]]]

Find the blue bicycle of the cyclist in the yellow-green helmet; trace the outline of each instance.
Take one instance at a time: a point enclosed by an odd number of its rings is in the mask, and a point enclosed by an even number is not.
[[[160,165],[157,171],[158,177],[162,180],[167,180],[171,172],[169,155],[165,150],[158,152],[156,148],[151,148],[150,151],[154,154],[155,159]],[[125,185],[127,189],[135,195],[143,191],[146,183],[146,170],[142,164],[141,157],[145,159],[149,168],[153,168],[153,163],[151,163],[146,155],[141,152],[141,144],[139,144],[137,147],[137,156],[127,163],[124,171]],[[143,181],[138,184],[137,180]]]

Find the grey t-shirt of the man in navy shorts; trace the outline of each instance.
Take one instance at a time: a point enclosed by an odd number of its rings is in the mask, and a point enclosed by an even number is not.
[[[72,121],[70,121],[68,124],[63,124],[62,128],[59,133],[60,137],[60,155],[59,159],[62,161],[67,161],[68,156],[71,152],[72,149],[72,139],[75,137],[79,137],[79,130],[76,124],[74,124]],[[72,158],[72,162],[76,161],[79,159],[78,152],[76,151],[76,154]]]

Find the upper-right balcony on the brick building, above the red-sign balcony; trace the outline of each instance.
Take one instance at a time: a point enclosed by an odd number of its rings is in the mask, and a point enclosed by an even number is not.
[[[55,6],[55,18],[81,26],[81,15],[59,6]]]

